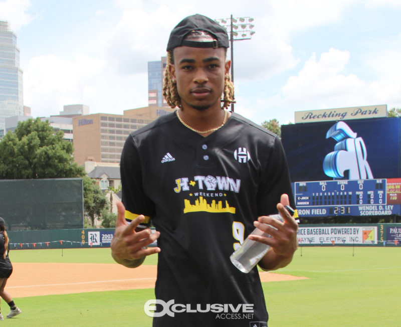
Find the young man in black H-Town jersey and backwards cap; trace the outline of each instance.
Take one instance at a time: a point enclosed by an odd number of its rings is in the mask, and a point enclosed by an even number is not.
[[[112,256],[136,267],[158,253],[154,326],[267,326],[257,268],[243,273],[230,255],[255,226],[272,235],[249,237],[271,246],[263,269],[286,266],[298,246],[283,207],[294,202],[279,138],[224,110],[233,99],[228,46],[213,20],[181,21],[164,81],[179,109],[132,132],[122,152],[125,209],[119,204]],[[277,210],[284,223],[268,217]],[[155,239],[158,247],[146,248]]]

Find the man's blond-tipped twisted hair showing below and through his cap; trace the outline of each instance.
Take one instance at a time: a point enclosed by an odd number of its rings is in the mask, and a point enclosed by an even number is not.
[[[205,38],[206,32],[200,31],[202,33],[199,33],[199,31],[192,31],[185,39],[201,39]],[[208,37],[212,37],[211,35],[207,35]],[[227,51],[227,49],[224,49]],[[177,90],[177,84],[175,80],[172,79],[172,76],[170,74],[170,70],[168,69],[169,65],[174,64],[174,56],[173,56],[173,50],[167,51],[167,68],[164,72],[164,81],[163,81],[163,96],[168,105],[171,108],[181,108],[181,98],[178,95],[178,90]],[[223,91],[223,99],[222,99],[223,105],[222,108],[228,108],[228,106],[235,102],[234,101],[234,84],[231,81],[231,75],[226,74],[224,76],[224,91]]]

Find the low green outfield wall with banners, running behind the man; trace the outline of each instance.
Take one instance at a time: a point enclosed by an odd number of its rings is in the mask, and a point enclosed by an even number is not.
[[[114,229],[9,231],[8,234],[12,250],[89,248],[110,247]],[[301,246],[397,246],[401,243],[401,224],[301,224],[298,242]]]

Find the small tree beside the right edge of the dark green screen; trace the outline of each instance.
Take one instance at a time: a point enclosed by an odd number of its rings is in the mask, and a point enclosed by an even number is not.
[[[103,210],[107,210],[109,203],[106,195],[99,185],[96,185],[89,176],[84,177],[84,212],[90,219],[92,227],[95,227],[95,220],[102,216]]]

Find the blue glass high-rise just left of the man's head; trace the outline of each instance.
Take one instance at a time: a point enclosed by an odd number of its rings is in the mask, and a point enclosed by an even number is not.
[[[168,107],[162,95],[164,71],[167,66],[167,57],[161,57],[160,61],[148,61],[148,105],[155,107]]]

